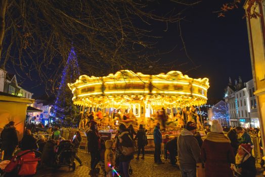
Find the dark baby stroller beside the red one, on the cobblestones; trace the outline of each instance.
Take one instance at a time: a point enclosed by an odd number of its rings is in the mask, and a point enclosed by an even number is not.
[[[55,168],[69,167],[69,170],[75,170],[73,147],[69,140],[60,142],[55,154]]]

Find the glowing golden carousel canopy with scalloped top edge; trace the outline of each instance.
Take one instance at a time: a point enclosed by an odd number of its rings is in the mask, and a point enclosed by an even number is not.
[[[122,108],[134,103],[182,107],[207,101],[208,78],[193,79],[180,71],[146,75],[120,70],[104,77],[81,75],[68,83],[75,105]]]

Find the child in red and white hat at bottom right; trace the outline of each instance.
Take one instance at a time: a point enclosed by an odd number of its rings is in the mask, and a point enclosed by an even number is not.
[[[236,169],[234,170],[239,173],[240,177],[256,176],[255,158],[251,155],[251,146],[249,144],[239,146],[236,155]]]

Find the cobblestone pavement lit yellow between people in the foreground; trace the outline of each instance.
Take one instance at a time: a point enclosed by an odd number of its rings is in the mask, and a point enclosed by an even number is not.
[[[58,176],[58,177],[81,177],[81,176],[90,176],[90,154],[79,152],[79,157],[84,163],[83,166],[79,166],[79,163],[76,162],[75,171],[68,170],[67,167],[60,168],[58,170],[53,169],[39,169],[37,171],[36,177],[50,177],[50,176]],[[181,171],[178,167],[173,167],[169,163],[165,162],[165,164],[157,165],[154,163],[153,156],[146,156],[143,159],[133,159],[131,161],[132,167],[132,175],[131,176],[167,176],[167,177],[179,177],[181,176]],[[99,176],[104,176],[103,171],[100,171]]]

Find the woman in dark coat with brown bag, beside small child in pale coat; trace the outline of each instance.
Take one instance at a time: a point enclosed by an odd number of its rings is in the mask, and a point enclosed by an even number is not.
[[[122,146],[133,147],[134,143],[129,137],[129,132],[123,123],[119,125],[119,131],[120,131],[120,135],[118,136],[119,149],[122,150]],[[120,173],[123,174],[124,177],[129,177],[129,163],[130,163],[130,160],[133,158],[134,158],[133,153],[130,155],[124,155],[121,153],[119,156],[119,170],[120,170]]]

